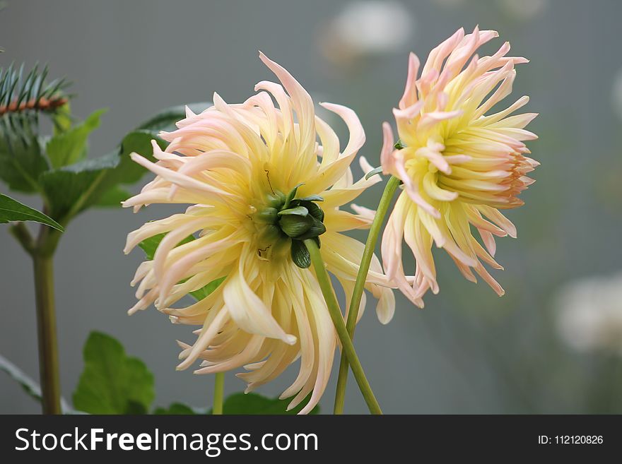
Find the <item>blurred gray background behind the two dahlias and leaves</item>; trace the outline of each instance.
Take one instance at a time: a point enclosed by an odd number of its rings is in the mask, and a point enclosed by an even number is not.
[[[622,268],[619,2],[7,4],[0,12],[0,45],[6,50],[0,66],[13,60],[27,66],[47,63],[52,76],[74,81],[72,107],[78,117],[109,108],[91,138],[91,156],[107,153],[158,109],[210,100],[215,90],[229,102],[244,100],[254,83],[274,79],[257,58],[261,49],[286,66],[316,101],[353,107],[368,136],[361,154],[377,165],[380,124],[391,120],[401,96],[407,53],[425,59],[461,26],[499,30],[501,38],[484,52],[509,40],[512,54],[531,60],[519,67],[514,99],[507,104],[527,94],[532,97],[527,111],[541,113],[529,126],[540,136],[529,143],[542,162],[534,174],[538,182],[524,194],[526,206],[507,213],[519,238],[498,242],[496,257],[506,270],[493,274],[506,295],[498,298],[486,285],[465,281],[444,252],[435,251],[440,295],[428,295],[424,310],[397,295],[388,326],[381,326],[368,308],[356,347],[387,413],[622,412],[622,350],[599,339],[587,347],[573,344],[590,333],[564,332],[560,318],[565,308],[556,304],[575,280],[606,279]],[[345,136],[345,128],[338,128]],[[374,208],[379,196],[377,186],[358,203]],[[36,204],[33,198],[16,197]],[[158,207],[138,215],[121,208],[90,210],[62,237],[55,269],[66,398],[71,399],[82,369],[83,343],[96,329],[115,336],[130,355],[146,362],[155,374],[157,405],[173,400],[209,405],[213,378],[175,371],[175,339],[192,340],[191,328],[172,326],[155,310],[126,314],[134,304],[129,280],[142,254],[124,256],[125,236],[168,213]],[[622,289],[617,301],[622,301]],[[589,314],[597,314],[597,298],[585,304],[593,304]],[[38,379],[30,261],[1,225],[0,314],[0,353]],[[601,325],[611,327],[607,321]],[[579,323],[577,330],[585,328]],[[591,335],[598,338],[598,333]],[[296,371],[291,367],[259,393],[280,393]],[[324,412],[332,409],[335,377],[321,402]],[[227,375],[226,391],[243,387]],[[0,413],[40,411],[3,373],[0,393]],[[353,381],[346,412],[366,412]]]

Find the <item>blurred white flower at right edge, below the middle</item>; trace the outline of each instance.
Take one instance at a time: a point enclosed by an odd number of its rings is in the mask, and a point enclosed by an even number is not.
[[[622,355],[622,273],[565,284],[556,297],[556,325],[575,350]]]

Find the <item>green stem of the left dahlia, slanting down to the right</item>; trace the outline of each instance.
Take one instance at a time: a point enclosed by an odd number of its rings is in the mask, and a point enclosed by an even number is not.
[[[331,285],[326,266],[324,266],[322,254],[320,254],[317,244],[312,239],[305,240],[305,245],[307,246],[307,250],[309,250],[309,254],[311,255],[311,262],[313,263],[313,268],[315,268],[315,275],[317,275],[319,287],[322,289],[322,295],[324,295],[324,300],[326,300],[326,304],[331,319],[333,320],[335,330],[337,332],[337,335],[339,335],[339,340],[341,341],[341,349],[345,353],[348,362],[350,362],[354,378],[358,383],[358,388],[360,388],[360,393],[363,393],[365,403],[367,403],[368,408],[372,414],[382,414],[380,405],[378,404],[374,392],[372,391],[372,388],[370,387],[370,384],[365,377],[363,367],[360,365],[360,361],[358,360],[358,356],[356,355],[356,351],[354,350],[354,345],[350,336],[348,335],[348,330],[346,329],[346,324],[344,323],[344,316],[341,314],[341,310],[339,309],[339,303],[337,303],[337,299],[333,292],[333,287]]]

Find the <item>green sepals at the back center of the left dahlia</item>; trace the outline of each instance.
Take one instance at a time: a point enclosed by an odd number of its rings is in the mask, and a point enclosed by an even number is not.
[[[311,266],[311,258],[304,241],[314,239],[319,246],[319,235],[326,232],[324,211],[316,203],[324,201],[324,198],[319,195],[295,198],[300,185],[295,186],[288,194],[281,191],[269,194],[264,205],[257,208],[252,216],[259,232],[257,256],[262,261],[283,256],[289,248],[296,266]]]

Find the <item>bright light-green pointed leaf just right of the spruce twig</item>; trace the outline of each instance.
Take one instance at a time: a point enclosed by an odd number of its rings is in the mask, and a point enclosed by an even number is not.
[[[73,165],[86,157],[88,136],[99,127],[100,116],[105,112],[105,109],[98,109],[78,126],[61,131],[49,140],[45,150],[52,167]]]

